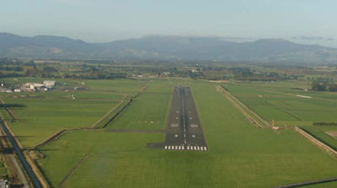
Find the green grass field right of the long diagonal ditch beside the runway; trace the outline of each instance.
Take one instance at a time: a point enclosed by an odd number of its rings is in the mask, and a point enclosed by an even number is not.
[[[226,88],[262,118],[277,125],[311,125],[337,121],[337,94],[292,90],[305,87],[300,81],[280,83],[235,83]],[[298,94],[312,98],[302,98]]]

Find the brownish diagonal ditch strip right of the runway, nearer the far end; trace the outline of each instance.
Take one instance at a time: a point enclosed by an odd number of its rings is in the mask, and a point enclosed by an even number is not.
[[[218,85],[217,90],[220,91],[221,94],[223,94],[232,104],[234,104],[234,106],[240,111],[241,114],[243,114],[246,119],[251,123],[254,124],[257,128],[263,128],[263,126],[256,121],[253,117],[250,116],[250,114],[248,114],[244,109],[242,109],[242,106],[245,106],[244,104],[240,103],[240,101],[237,99],[237,101],[234,101],[233,98],[235,98],[234,96],[232,96],[228,91],[226,91],[225,88],[223,88],[221,85]],[[246,107],[246,109],[248,109],[248,107]],[[250,110],[250,109],[248,109]],[[250,111],[251,112],[251,111]],[[257,114],[256,114],[257,116]]]

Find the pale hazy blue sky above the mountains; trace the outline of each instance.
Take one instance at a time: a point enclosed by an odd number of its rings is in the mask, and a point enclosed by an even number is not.
[[[0,32],[65,35],[87,42],[143,35],[219,35],[294,37],[303,43],[331,45],[337,43],[337,1],[2,0]]]

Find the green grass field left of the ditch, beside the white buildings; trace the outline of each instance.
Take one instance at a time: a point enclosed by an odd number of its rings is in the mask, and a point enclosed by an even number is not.
[[[22,79],[24,80],[18,82],[29,80],[28,78]],[[65,87],[67,89],[54,92],[1,95],[6,104],[13,106],[11,108],[19,118],[10,125],[25,147],[33,147],[62,129],[81,128],[95,124],[120,100],[137,94],[146,84],[129,80],[58,80],[58,82],[61,85],[56,89]],[[83,85],[85,85],[84,90],[74,91],[73,88],[83,87]],[[10,117],[7,115],[8,118]]]

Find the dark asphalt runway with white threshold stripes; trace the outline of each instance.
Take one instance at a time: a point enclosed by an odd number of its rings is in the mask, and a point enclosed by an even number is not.
[[[174,88],[164,149],[208,150],[189,87],[175,86]]]

